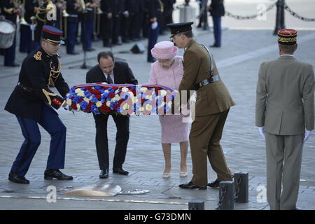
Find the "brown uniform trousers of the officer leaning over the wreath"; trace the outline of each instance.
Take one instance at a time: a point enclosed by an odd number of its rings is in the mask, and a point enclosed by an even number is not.
[[[232,181],[232,174],[220,145],[225,120],[230,109],[209,116],[196,117],[189,135],[195,185],[207,187],[207,158],[218,181]]]

